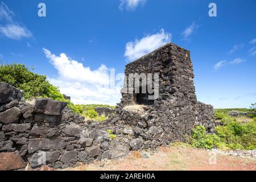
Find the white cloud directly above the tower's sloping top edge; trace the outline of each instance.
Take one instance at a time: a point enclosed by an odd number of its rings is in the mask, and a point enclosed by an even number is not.
[[[134,61],[156,48],[171,42],[172,34],[160,30],[157,34],[147,35],[142,39],[136,39],[134,42],[126,44],[125,57],[129,61]]]

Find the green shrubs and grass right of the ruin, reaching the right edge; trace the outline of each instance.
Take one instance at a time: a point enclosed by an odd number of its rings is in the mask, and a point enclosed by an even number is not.
[[[222,150],[256,149],[256,119],[240,123],[236,118],[224,117],[221,121],[224,125],[215,127],[216,135],[207,134],[204,126],[195,127],[189,139],[192,147],[217,147]]]

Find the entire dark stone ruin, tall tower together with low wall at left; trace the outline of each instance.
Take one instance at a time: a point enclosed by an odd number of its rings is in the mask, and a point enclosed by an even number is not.
[[[154,79],[146,82],[146,90],[127,79],[115,115],[105,122],[84,121],[67,102],[37,98],[28,104],[20,90],[0,82],[0,171],[24,169],[27,163],[67,168],[119,158],[131,150],[154,150],[185,140],[197,125],[214,132],[213,107],[196,98],[189,51],[166,44],[126,65],[127,77],[129,73],[146,73],[147,78],[151,73]],[[125,92],[127,85],[130,92]]]

